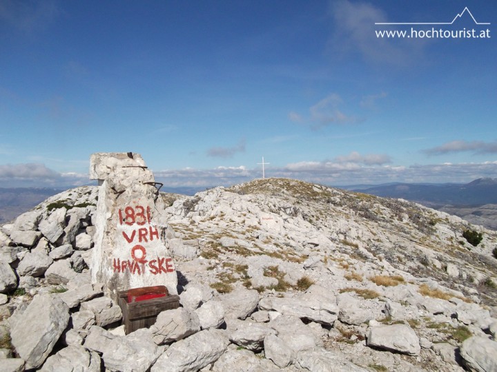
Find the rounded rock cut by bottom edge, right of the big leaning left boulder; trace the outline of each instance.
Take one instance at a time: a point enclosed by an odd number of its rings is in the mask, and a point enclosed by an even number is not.
[[[50,356],[40,371],[59,372],[64,369],[65,371],[100,372],[100,364],[100,357],[95,351],[71,345]]]

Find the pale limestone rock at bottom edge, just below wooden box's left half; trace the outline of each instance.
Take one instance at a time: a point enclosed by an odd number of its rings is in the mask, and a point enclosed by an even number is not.
[[[150,330],[142,328],[111,340],[102,359],[108,371],[146,372],[162,351],[164,347],[153,342]]]

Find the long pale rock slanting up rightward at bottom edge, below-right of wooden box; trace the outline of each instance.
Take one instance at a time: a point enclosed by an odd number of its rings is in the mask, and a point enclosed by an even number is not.
[[[229,340],[220,329],[206,329],[172,344],[150,372],[198,371],[215,362],[226,351]]]

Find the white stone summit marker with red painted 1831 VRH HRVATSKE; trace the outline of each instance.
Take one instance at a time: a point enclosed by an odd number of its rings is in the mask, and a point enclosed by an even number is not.
[[[177,294],[177,273],[159,223],[162,200],[139,154],[96,153],[90,179],[99,180],[92,282],[117,300],[117,292],[165,285]],[[157,207],[156,207],[157,203]]]

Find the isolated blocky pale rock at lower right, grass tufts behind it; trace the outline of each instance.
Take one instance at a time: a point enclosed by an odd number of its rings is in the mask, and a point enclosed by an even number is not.
[[[379,325],[367,332],[367,346],[419,355],[421,347],[416,333],[406,324]]]

